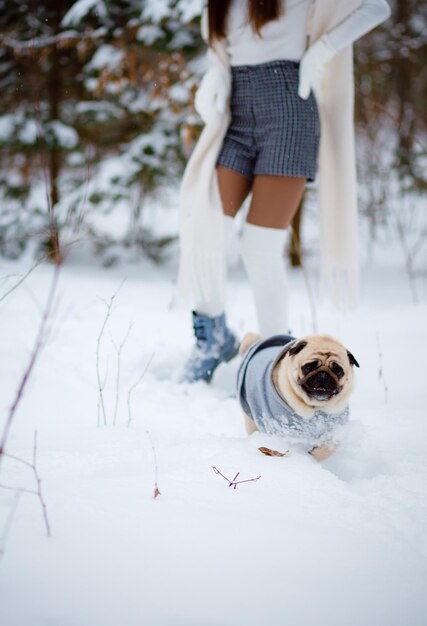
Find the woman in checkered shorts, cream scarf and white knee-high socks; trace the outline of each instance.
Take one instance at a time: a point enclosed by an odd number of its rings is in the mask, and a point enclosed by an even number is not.
[[[196,335],[183,380],[210,381],[237,352],[224,314],[224,249],[249,193],[240,254],[259,330],[287,330],[285,230],[318,161],[323,275],[336,300],[354,300],[351,45],[389,15],[385,0],[209,0],[211,67],[196,94],[206,126],[180,199],[179,282],[195,303]]]

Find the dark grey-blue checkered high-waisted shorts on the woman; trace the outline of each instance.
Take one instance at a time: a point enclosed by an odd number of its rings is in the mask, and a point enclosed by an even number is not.
[[[298,96],[299,62],[231,68],[231,122],[217,165],[257,174],[316,177],[320,121],[313,93]]]

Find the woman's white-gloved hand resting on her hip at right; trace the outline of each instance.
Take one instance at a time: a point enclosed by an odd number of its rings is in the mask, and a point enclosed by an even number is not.
[[[310,91],[313,90],[316,99],[320,100],[325,68],[334,55],[335,51],[323,38],[316,41],[305,52],[299,69],[298,95],[300,98],[307,100]]]

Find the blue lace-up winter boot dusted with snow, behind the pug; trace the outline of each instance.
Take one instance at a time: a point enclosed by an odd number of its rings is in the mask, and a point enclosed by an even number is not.
[[[239,351],[239,341],[227,327],[225,315],[199,315],[193,311],[193,329],[196,345],[185,364],[181,382],[198,380],[210,382],[220,363],[231,361]]]

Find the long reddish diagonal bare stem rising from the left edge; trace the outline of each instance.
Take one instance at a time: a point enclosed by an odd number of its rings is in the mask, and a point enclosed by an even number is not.
[[[9,436],[9,432],[10,432],[10,427],[12,425],[13,419],[16,415],[16,411],[18,409],[19,403],[22,400],[22,397],[24,395],[24,391],[25,388],[28,384],[28,380],[31,376],[31,373],[34,369],[34,366],[36,364],[36,361],[38,359],[38,357],[40,356],[40,351],[43,347],[43,344],[45,342],[45,334],[46,334],[46,328],[47,328],[47,323],[49,320],[49,316],[52,310],[52,306],[54,303],[54,298],[55,298],[55,292],[56,292],[56,288],[57,288],[57,284],[58,284],[58,277],[59,277],[59,271],[60,271],[60,265],[55,265],[54,270],[53,270],[53,277],[52,277],[52,282],[50,285],[50,289],[49,289],[49,294],[48,294],[48,298],[46,301],[46,305],[45,305],[45,309],[43,311],[43,315],[42,315],[42,319],[40,322],[40,326],[39,326],[39,330],[37,333],[37,337],[36,337],[36,341],[34,344],[34,348],[32,350],[31,356],[30,356],[30,360],[29,363],[27,365],[27,368],[24,372],[24,375],[21,379],[21,382],[19,383],[18,386],[18,390],[16,392],[15,398],[12,402],[12,406],[9,409],[9,414],[6,418],[6,423],[4,425],[3,428],[3,432],[1,435],[1,439],[0,439],[0,465],[1,465],[1,460],[2,457],[4,455],[4,451],[5,451],[5,447],[6,447],[6,442],[7,442],[7,438]]]

